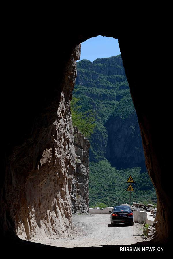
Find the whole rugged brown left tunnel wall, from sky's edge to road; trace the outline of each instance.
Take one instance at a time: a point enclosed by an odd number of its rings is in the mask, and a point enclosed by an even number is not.
[[[73,232],[71,191],[76,154],[69,99],[76,79],[74,59],[79,56],[80,45],[64,71],[56,119],[41,127],[36,121],[31,138],[7,158],[1,224],[4,232],[14,231],[22,239]]]

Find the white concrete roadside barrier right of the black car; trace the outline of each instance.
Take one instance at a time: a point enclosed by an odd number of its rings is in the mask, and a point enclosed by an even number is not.
[[[133,211],[133,217],[134,217],[134,222],[138,222],[138,223],[145,222],[146,224],[153,224],[155,220],[155,218],[153,218],[150,212],[139,211],[139,210]]]

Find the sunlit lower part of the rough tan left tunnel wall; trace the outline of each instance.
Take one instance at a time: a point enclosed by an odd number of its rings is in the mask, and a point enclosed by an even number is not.
[[[27,172],[26,182],[23,182],[25,188],[15,199],[22,208],[15,213],[19,237],[61,237],[72,232],[70,192],[75,154],[70,117],[69,102],[65,102],[62,92],[57,120],[44,137],[45,142],[49,137],[47,147],[37,168]],[[16,170],[14,168],[13,174]]]

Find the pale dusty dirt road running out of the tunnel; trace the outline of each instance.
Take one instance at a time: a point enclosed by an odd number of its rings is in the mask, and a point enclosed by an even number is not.
[[[58,247],[88,247],[102,245],[131,245],[148,241],[143,235],[143,225],[110,225],[110,215],[74,215],[72,216],[74,235],[65,238],[33,239],[31,241]]]

